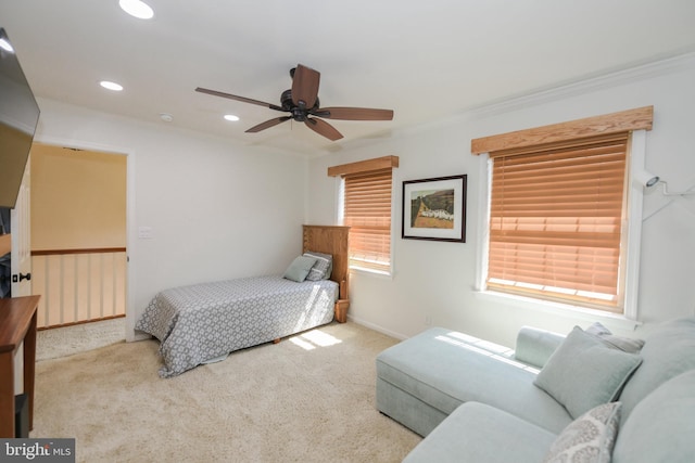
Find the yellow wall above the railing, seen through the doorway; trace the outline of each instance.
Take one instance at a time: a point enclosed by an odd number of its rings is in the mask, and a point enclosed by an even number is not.
[[[35,143],[31,249],[125,245],[126,156]]]

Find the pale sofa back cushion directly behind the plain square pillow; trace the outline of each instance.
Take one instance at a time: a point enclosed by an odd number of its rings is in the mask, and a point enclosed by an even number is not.
[[[622,422],[636,404],[659,385],[695,369],[695,318],[671,320],[644,336],[642,365],[626,384],[620,401]]]

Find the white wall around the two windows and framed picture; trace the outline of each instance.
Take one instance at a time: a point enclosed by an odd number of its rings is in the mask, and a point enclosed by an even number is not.
[[[308,221],[336,218],[336,184],[329,166],[384,155],[400,156],[394,170],[394,274],[380,278],[353,272],[349,316],[397,337],[433,325],[463,330],[514,345],[518,329],[531,324],[567,333],[593,317],[560,314],[482,297],[473,290],[479,236],[481,159],[470,154],[471,139],[654,105],[647,132],[646,166],[672,190],[695,187],[695,55],[670,60],[603,78],[468,111],[444,121],[413,128],[391,138],[309,163]],[[397,111],[395,114],[397,117]],[[402,182],[468,175],[465,244],[401,239]],[[671,198],[660,190],[644,197],[639,320],[654,322],[695,314],[695,196]],[[634,324],[602,320],[617,333]]]

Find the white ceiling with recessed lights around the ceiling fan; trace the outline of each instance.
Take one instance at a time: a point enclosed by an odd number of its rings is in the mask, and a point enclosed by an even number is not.
[[[0,27],[38,97],[299,153],[340,150],[504,99],[695,51],[693,0],[2,0]],[[324,106],[394,110],[331,124],[330,142],[269,108],[298,63],[321,73]],[[101,89],[103,79],[125,90]],[[227,113],[237,123],[225,121]]]

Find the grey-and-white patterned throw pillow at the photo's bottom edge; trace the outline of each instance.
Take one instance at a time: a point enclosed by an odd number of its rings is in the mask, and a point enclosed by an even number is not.
[[[620,402],[604,403],[571,422],[557,436],[543,463],[609,463],[621,407]]]

